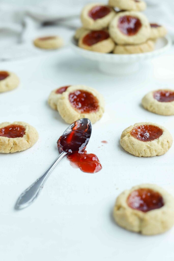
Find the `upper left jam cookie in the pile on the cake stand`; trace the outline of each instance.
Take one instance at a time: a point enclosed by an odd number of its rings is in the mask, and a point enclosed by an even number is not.
[[[84,28],[100,30],[106,28],[115,15],[113,8],[100,3],[87,4],[81,13]]]

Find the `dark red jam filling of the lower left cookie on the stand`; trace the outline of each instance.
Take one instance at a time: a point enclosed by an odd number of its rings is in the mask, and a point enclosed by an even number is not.
[[[91,46],[93,44],[97,44],[98,42],[106,40],[107,38],[109,38],[109,33],[104,30],[100,30],[100,31],[92,31],[86,34],[83,37],[82,41],[83,44]]]

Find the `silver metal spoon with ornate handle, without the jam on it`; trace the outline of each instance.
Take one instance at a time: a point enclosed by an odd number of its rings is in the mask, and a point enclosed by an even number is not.
[[[72,129],[76,129],[76,130],[81,130],[88,132],[88,137],[91,137],[91,131],[92,131],[92,126],[91,126],[91,121],[87,118],[82,118],[80,120],[77,120],[75,122],[73,122],[63,133],[63,135],[67,135],[68,133],[70,133],[72,131]],[[81,144],[80,146],[82,147],[86,147],[87,143],[88,143],[89,139],[86,141],[86,144],[83,146],[83,144]],[[53,163],[50,165],[50,167],[44,172],[44,174],[39,177],[31,186],[29,186],[21,195],[20,197],[17,199],[16,205],[15,205],[15,209],[19,210],[19,209],[23,209],[29,205],[31,205],[33,203],[33,201],[37,198],[37,196],[39,195],[41,189],[43,188],[45,181],[47,180],[47,178],[49,177],[49,175],[51,174],[52,170],[56,167],[57,163],[65,156],[68,154],[68,150],[66,149],[66,151],[63,151],[56,159],[55,161],[53,161]]]

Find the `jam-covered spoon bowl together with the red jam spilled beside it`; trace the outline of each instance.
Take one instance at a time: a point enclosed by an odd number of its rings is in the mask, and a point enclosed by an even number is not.
[[[87,173],[96,173],[102,169],[95,154],[88,154],[86,145],[91,137],[91,122],[81,119],[74,122],[57,141],[59,153],[65,151],[71,163]]]

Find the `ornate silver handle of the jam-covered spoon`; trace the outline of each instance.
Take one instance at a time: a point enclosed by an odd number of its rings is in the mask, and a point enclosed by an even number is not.
[[[67,152],[62,152],[50,167],[44,172],[44,174],[38,178],[31,186],[29,186],[18,198],[15,209],[23,209],[29,206],[39,195],[41,189],[43,188],[45,181],[49,177],[52,170],[56,167],[57,163],[67,154]]]

